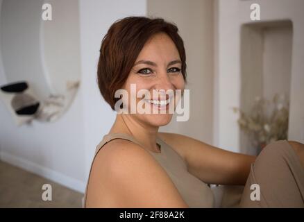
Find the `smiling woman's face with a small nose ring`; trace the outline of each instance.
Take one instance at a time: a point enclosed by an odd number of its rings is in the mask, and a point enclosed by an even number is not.
[[[183,90],[185,87],[181,68],[182,63],[178,49],[171,38],[165,33],[153,35],[140,51],[124,84],[124,89],[127,90],[129,96],[133,96],[133,98],[129,97],[128,110],[132,105],[130,100],[134,99],[136,105],[142,101],[139,107],[146,108],[147,105],[151,112],[144,114],[136,112],[131,116],[149,126],[167,125],[173,115],[172,112],[169,112],[169,106],[175,108],[180,99],[180,96],[176,94],[176,89]],[[134,86],[136,86],[136,94],[141,89],[146,89],[146,92],[149,91],[151,100],[149,98],[144,100],[144,96],[135,99],[136,95],[131,94],[131,84],[135,84],[133,85],[133,91]],[[168,89],[174,92],[174,95],[166,95],[165,92],[168,92]],[[153,91],[154,93],[162,92],[163,95],[155,98],[155,96],[153,97]]]

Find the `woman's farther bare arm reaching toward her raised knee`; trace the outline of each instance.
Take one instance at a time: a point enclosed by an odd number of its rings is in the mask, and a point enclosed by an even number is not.
[[[203,182],[244,185],[255,156],[225,151],[199,140],[173,133],[159,133],[187,164],[189,173]]]

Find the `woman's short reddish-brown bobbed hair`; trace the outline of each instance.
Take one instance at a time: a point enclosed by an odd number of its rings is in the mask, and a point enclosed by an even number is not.
[[[101,42],[97,83],[101,95],[112,110],[118,100],[115,92],[120,89],[132,69],[137,56],[152,35],[166,33],[176,45],[182,62],[182,74],[186,80],[186,54],[184,43],[175,24],[162,18],[125,17],[110,26]]]

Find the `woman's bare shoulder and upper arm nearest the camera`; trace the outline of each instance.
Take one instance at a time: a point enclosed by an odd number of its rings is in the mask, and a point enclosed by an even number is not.
[[[87,207],[186,207],[176,187],[144,148],[125,139],[109,142],[96,155]]]

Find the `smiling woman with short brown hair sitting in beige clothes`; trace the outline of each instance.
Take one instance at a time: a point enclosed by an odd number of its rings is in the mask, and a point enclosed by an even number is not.
[[[85,207],[213,207],[206,184],[246,184],[241,207],[303,207],[303,144],[279,141],[256,158],[183,135],[158,133],[171,121],[169,112],[130,113],[127,101],[142,101],[130,96],[131,85],[151,94],[183,91],[185,60],[174,24],[147,17],[126,17],[112,24],[101,44],[98,84],[113,110],[122,105],[127,112],[117,114],[96,148]],[[124,104],[115,96],[119,89],[128,92]],[[144,100],[143,107],[167,111],[178,99],[176,93],[171,98],[160,94]],[[260,185],[257,201],[250,197],[254,183]],[[286,190],[288,195],[278,195]]]

